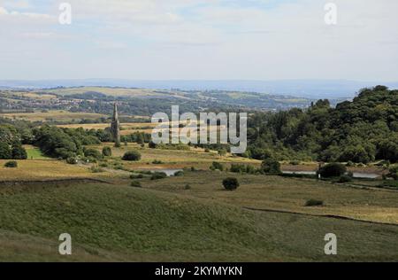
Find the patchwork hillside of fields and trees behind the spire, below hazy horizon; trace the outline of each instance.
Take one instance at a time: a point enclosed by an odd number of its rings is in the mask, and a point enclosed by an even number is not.
[[[112,103],[115,101],[119,103],[120,113],[127,116],[147,117],[157,112],[169,113],[172,105],[176,104],[180,105],[181,112],[276,111],[292,107],[307,107],[311,102],[306,98],[220,90],[105,87],[0,90],[0,110],[3,113],[64,110],[73,113],[109,115]]]

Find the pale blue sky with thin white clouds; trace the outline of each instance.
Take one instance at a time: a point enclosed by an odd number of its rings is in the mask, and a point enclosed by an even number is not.
[[[397,11],[396,0],[0,0],[0,80],[392,82]]]

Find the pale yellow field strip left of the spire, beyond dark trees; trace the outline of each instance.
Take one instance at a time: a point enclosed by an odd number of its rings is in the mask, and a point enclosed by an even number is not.
[[[49,111],[47,113],[34,112],[34,113],[0,113],[0,117],[25,120],[25,121],[62,121],[73,122],[85,120],[97,120],[103,117],[108,117],[99,113],[71,113],[67,111]]]

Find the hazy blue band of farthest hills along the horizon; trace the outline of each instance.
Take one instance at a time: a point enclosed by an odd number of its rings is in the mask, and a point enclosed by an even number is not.
[[[86,79],[86,80],[42,80],[42,81],[0,81],[0,87],[8,88],[56,88],[79,86],[103,86],[143,89],[181,89],[181,90],[237,90],[259,92],[275,95],[289,95],[307,98],[350,98],[355,97],[358,89],[377,84],[387,85],[390,89],[398,89],[398,82],[357,82],[346,80],[280,80],[280,81],[134,81],[117,79]]]

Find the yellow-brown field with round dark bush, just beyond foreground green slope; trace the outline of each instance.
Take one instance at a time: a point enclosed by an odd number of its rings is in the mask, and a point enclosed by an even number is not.
[[[241,187],[224,191],[222,181],[237,177]],[[185,190],[189,183],[191,189]],[[395,223],[398,225],[398,191],[360,189],[348,185],[318,182],[310,179],[283,178],[267,175],[236,175],[226,172],[188,172],[162,184],[149,181],[144,188],[194,196],[259,210],[288,211],[301,214],[338,215],[342,217]],[[310,199],[324,201],[324,206],[307,207]]]

